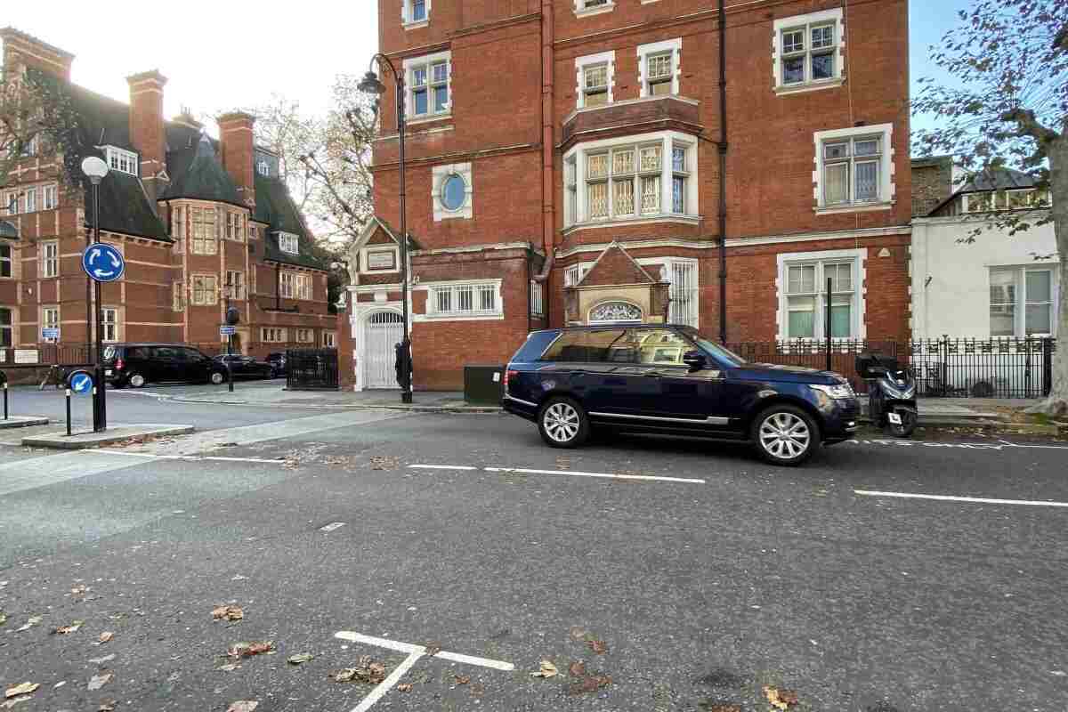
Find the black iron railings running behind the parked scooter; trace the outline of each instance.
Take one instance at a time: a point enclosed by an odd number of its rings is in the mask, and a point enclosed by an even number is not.
[[[747,361],[827,368],[823,343],[758,342],[729,344]],[[1040,398],[1053,384],[1056,339],[942,338],[833,342],[830,368],[848,378],[858,392],[867,385],[857,374],[857,357],[876,352],[912,368],[921,396],[952,398]]]

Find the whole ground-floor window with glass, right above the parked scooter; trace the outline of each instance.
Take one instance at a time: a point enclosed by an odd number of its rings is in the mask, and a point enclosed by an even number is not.
[[[865,254],[861,249],[780,255],[780,337],[863,338]]]

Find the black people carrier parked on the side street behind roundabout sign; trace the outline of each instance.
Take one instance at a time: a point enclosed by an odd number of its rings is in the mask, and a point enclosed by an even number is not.
[[[146,383],[224,383],[226,367],[185,344],[114,344],[104,349],[104,375],[116,389]]]

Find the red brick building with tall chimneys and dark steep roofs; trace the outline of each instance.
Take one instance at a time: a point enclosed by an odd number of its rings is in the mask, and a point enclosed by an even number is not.
[[[69,102],[67,165],[89,155],[110,168],[100,184],[101,240],[126,259],[104,286],[105,342],[220,345],[225,305],[241,314],[236,343],[266,355],[288,345],[333,346],[327,266],[279,179],[278,159],[253,142],[254,116],[219,116],[220,140],[189,115],[163,118],[167,79],[128,78],[129,105],[70,82],[73,56],[12,28],[0,30],[5,69],[47,83]],[[54,353],[84,344],[91,193],[61,179],[63,156],[35,141],[0,186],[0,353]],[[73,160],[72,160],[73,159]]]

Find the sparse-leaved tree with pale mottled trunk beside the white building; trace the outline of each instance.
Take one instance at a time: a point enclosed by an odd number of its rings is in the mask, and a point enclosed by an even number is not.
[[[1068,3],[975,0],[960,23],[931,47],[931,61],[954,81],[921,80],[913,101],[939,128],[917,131],[922,154],[952,154],[969,173],[1015,168],[1034,176],[1049,204],[995,213],[1009,235],[1053,223],[1061,255],[1058,331],[1049,399],[1031,409],[1068,412]],[[979,227],[977,231],[981,231]],[[974,233],[973,236],[974,238]],[[967,241],[967,240],[965,240]]]

